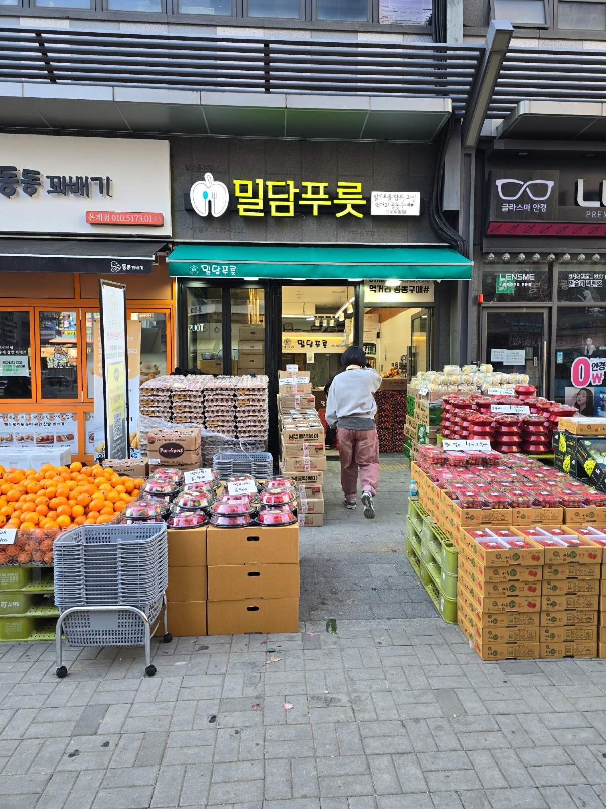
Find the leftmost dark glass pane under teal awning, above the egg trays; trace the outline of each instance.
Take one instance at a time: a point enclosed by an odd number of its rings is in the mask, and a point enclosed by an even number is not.
[[[221,289],[187,286],[187,368],[204,374],[223,373],[223,308]]]

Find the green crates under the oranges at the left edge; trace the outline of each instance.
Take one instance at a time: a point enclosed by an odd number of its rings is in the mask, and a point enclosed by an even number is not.
[[[53,568],[0,568],[0,641],[53,641],[59,610]]]

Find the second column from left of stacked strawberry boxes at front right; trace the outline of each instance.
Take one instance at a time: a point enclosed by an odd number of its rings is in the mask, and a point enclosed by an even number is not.
[[[577,530],[562,527],[567,534]],[[597,656],[602,548],[577,536],[583,547],[545,548],[541,658]]]

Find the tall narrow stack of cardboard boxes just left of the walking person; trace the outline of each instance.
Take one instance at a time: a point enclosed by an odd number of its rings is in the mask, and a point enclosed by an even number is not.
[[[309,371],[280,371],[279,389],[280,474],[297,484],[299,525],[322,526],[325,435],[311,395]]]

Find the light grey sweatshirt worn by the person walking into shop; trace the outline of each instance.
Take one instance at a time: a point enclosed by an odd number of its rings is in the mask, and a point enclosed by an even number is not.
[[[377,404],[372,394],[381,381],[372,368],[350,368],[337,374],[328,389],[326,423],[349,430],[374,430]]]

